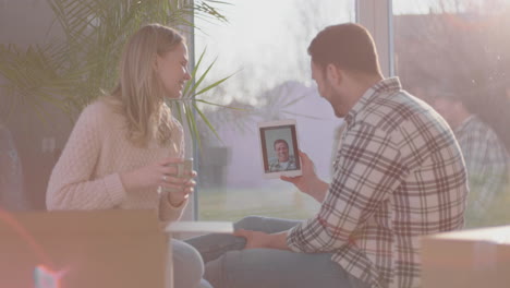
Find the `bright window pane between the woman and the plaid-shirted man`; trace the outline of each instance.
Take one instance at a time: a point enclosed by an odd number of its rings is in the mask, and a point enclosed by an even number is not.
[[[243,111],[204,106],[217,140],[203,129],[198,166],[198,218],[235,220],[246,215],[305,218],[317,203],[281,180],[263,178],[257,122],[296,119],[301,148],[329,178],[335,131],[341,120],[311,79],[306,52],[325,26],[355,21],[354,0],[235,1],[228,24],[195,20],[195,53],[217,57],[209,81],[233,73],[207,100]]]

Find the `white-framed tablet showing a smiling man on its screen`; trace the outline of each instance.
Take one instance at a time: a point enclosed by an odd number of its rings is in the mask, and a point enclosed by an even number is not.
[[[301,176],[295,120],[279,120],[258,123],[265,178]]]

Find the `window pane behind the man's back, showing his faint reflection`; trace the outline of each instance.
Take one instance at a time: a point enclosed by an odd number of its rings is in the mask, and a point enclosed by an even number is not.
[[[509,16],[507,0],[393,1],[396,74],[458,137],[471,189],[466,227],[510,219]]]

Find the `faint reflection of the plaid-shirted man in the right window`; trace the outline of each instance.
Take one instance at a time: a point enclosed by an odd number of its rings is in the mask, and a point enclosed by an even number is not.
[[[508,184],[509,156],[496,132],[473,113],[476,105],[470,96],[436,92],[433,107],[447,120],[464,156],[470,196],[465,212],[466,226],[496,225],[495,204],[505,197]],[[473,106],[472,108],[469,108]]]

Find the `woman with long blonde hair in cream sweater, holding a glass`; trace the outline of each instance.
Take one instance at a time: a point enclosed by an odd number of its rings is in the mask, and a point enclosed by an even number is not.
[[[175,177],[183,129],[165,98],[179,98],[190,77],[178,32],[158,24],[136,32],[124,48],[118,86],[84,109],[53,168],[48,209],[157,208],[160,220],[179,219],[196,172]],[[198,253],[171,241],[175,288],[210,287],[202,280]]]

